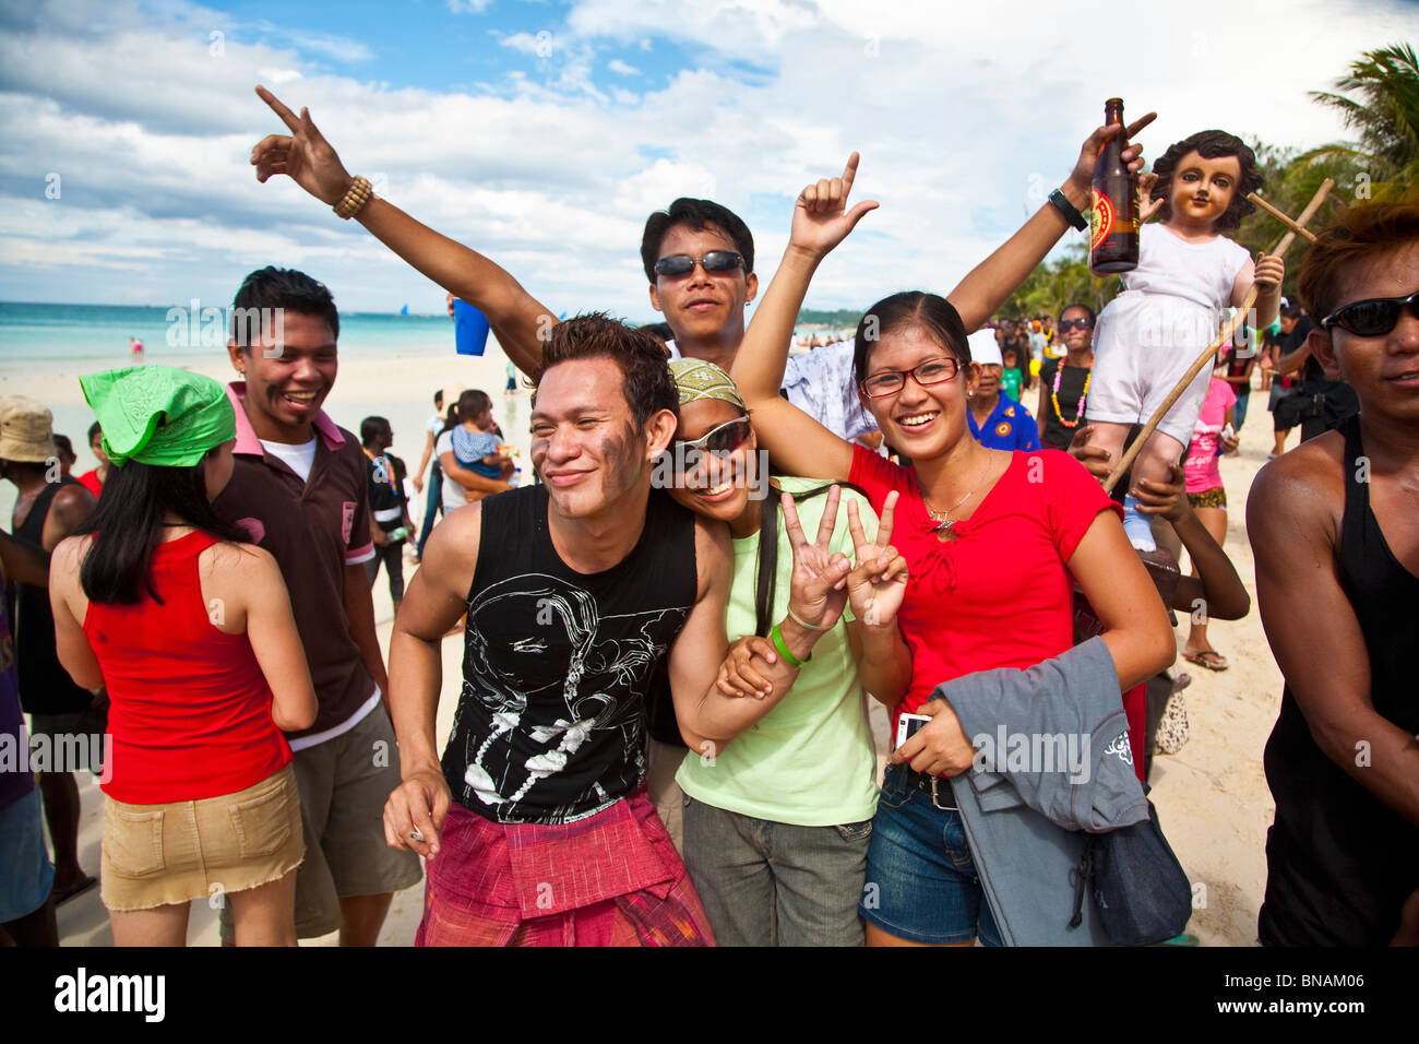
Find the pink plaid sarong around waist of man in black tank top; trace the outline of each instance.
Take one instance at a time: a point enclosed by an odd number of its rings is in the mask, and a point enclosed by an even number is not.
[[[712,946],[641,787],[578,822],[502,824],[457,801],[427,864],[414,946]]]

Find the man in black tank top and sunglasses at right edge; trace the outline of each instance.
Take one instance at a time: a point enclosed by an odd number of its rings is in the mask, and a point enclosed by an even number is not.
[[[1286,676],[1266,746],[1264,945],[1419,945],[1419,205],[1354,207],[1305,256],[1307,348],[1359,416],[1247,500]]]

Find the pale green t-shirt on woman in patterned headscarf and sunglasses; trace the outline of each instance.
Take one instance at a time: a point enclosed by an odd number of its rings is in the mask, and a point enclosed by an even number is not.
[[[795,494],[817,489],[817,479],[779,479]],[[857,500],[863,531],[877,534],[877,516],[867,497],[843,489],[832,548],[850,561],[853,535],[847,501]],[[799,504],[799,523],[812,540],[827,494]],[[759,534],[734,541],[734,584],[725,618],[731,639],[753,634],[753,592],[758,585]],[[788,616],[793,548],[779,510],[778,582],[773,624]],[[877,810],[877,751],[867,726],[867,703],[851,642],[849,608],[813,646],[813,659],[799,670],[793,687],[759,722],[739,733],[714,761],[695,751],[685,756],[675,780],[697,801],[772,822],[832,827],[870,820]]]

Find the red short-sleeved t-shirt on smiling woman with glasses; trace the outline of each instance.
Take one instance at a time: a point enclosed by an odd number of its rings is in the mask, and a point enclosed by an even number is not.
[[[1032,668],[1073,645],[1073,580],[1064,562],[1100,511],[1121,509],[1067,453],[1016,450],[956,538],[934,533],[917,473],[863,446],[849,480],[881,514],[897,501],[893,547],[911,582],[897,622],[911,649],[911,686],[893,712],[915,712],[942,682],[992,668]]]

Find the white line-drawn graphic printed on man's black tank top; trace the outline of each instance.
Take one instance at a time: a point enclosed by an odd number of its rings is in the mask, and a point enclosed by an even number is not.
[[[604,615],[546,574],[468,602],[464,685],[444,776],[499,822],[559,824],[627,797],[646,773],[643,703],[684,608]]]

